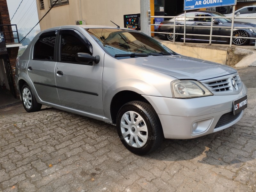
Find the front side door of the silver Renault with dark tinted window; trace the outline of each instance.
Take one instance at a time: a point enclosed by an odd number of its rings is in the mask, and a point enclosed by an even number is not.
[[[87,38],[75,29],[61,29],[58,42],[55,78],[61,105],[103,115],[101,80],[104,52],[93,49]],[[100,62],[77,62],[75,56],[78,52],[99,55]]]

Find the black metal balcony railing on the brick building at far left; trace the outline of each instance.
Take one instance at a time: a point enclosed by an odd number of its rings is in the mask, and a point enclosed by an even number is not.
[[[0,25],[0,31],[4,33],[5,44],[14,44],[16,43],[15,39],[20,43],[17,25]],[[17,34],[17,37],[14,37],[15,33]]]

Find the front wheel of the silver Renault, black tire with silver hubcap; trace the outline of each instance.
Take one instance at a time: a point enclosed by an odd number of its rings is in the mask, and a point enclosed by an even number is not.
[[[124,146],[137,155],[156,150],[163,140],[162,126],[154,108],[142,101],[124,104],[118,111],[116,126]]]

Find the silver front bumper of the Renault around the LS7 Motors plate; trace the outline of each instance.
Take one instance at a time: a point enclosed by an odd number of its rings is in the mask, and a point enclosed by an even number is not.
[[[192,99],[145,96],[161,121],[166,139],[191,139],[217,132],[238,122],[243,114],[233,115],[233,101],[247,94],[214,95]]]

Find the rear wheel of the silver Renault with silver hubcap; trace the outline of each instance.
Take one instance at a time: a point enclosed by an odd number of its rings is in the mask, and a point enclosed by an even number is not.
[[[21,88],[21,100],[28,113],[39,111],[42,107],[42,104],[37,103],[34,93],[26,83]]]

